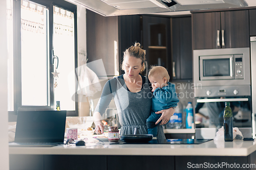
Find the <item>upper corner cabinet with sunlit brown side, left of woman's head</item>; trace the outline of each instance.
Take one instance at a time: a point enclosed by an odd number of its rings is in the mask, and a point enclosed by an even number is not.
[[[123,52],[141,41],[140,19],[139,15],[104,17],[87,10],[88,62],[102,59],[106,75],[121,74]]]

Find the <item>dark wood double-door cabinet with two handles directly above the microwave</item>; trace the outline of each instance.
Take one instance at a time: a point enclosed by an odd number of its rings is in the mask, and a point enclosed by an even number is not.
[[[248,10],[192,12],[193,48],[249,47]]]

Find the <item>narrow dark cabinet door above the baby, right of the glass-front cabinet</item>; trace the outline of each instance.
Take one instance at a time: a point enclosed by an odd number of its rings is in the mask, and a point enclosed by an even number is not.
[[[173,61],[168,65],[173,68],[172,80],[193,79],[191,17],[171,18],[171,28]]]

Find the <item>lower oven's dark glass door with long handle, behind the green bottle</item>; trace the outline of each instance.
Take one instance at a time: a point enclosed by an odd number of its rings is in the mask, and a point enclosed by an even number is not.
[[[195,113],[199,113],[198,116],[204,115],[207,117],[204,122],[196,122],[197,128],[221,128],[224,121],[225,102],[230,102],[233,113],[233,127],[251,128],[251,96],[196,98],[196,102]]]

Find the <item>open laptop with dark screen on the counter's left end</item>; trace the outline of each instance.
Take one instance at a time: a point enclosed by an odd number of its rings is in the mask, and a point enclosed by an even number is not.
[[[9,147],[53,147],[64,144],[67,111],[19,111]]]

